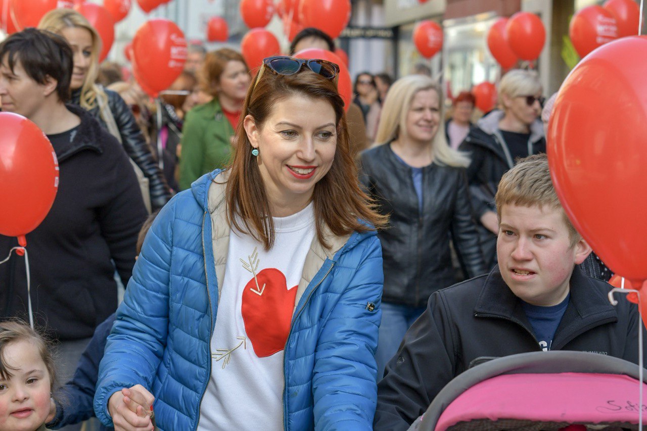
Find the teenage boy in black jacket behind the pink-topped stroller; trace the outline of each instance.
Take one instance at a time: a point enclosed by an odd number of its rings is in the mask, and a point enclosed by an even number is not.
[[[406,430],[478,357],[576,350],[638,363],[637,306],[609,304],[611,287],[575,266],[591,247],[565,215],[545,155],[503,175],[496,208],[499,265],[432,294],[378,384],[375,430]]]

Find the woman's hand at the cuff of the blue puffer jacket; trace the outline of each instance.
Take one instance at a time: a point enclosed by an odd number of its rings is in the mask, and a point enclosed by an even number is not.
[[[108,400],[108,412],[115,431],[153,431],[151,405],[155,397],[140,384],[115,392]]]

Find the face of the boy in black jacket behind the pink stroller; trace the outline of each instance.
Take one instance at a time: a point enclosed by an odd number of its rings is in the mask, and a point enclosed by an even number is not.
[[[562,210],[505,204],[499,226],[499,269],[512,293],[533,305],[560,304],[574,265],[591,252],[583,239],[571,247]]]

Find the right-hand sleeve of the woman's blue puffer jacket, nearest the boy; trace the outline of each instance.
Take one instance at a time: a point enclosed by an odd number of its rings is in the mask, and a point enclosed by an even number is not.
[[[380,241],[377,237],[368,241],[358,267],[349,280],[345,278],[347,286],[323,326],[314,352],[316,430],[372,429],[384,276]]]

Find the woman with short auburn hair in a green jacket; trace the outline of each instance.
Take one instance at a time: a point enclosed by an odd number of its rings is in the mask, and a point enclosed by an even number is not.
[[[205,91],[214,98],[186,114],[180,155],[181,190],[190,188],[204,173],[229,163],[232,137],[251,81],[243,56],[228,48],[207,54],[201,78]]]

